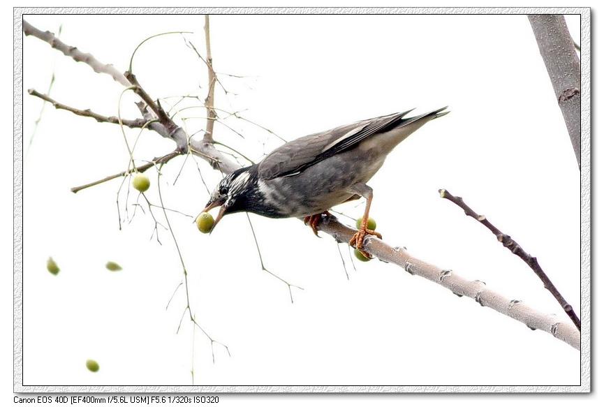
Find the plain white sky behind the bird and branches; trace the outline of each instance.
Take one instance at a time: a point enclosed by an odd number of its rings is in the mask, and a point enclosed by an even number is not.
[[[126,71],[135,47],[167,31],[204,50],[199,15],[28,16],[43,30]],[[567,17],[579,40],[577,16]],[[212,16],[214,68],[230,94],[217,105],[241,111],[286,140],[351,121],[445,105],[392,152],[369,182],[371,215],[386,242],[478,279],[545,313],[563,314],[529,267],[461,209],[448,188],[536,256],[580,311],[580,176],[566,126],[524,15]],[[135,56],[134,73],[154,98],[204,98],[205,66],[175,34]],[[75,108],[117,115],[122,87],[36,38],[24,38],[24,89]],[[235,96],[234,94],[237,94]],[[168,98],[168,103],[177,101]],[[126,95],[124,117],[135,118]],[[193,105],[194,103],[190,103]],[[200,105],[200,103],[197,103]],[[24,96],[24,149],[41,103]],[[205,110],[184,110],[190,133]],[[216,125],[215,138],[258,161],[280,142],[230,120],[245,140]],[[135,140],[138,131],[127,131]],[[172,151],[142,133],[140,162]],[[70,188],[126,169],[118,126],[47,106],[24,157],[23,384],[43,385],[579,385],[580,353],[545,332],[378,260],[351,260],[348,248],[317,239],[295,219],[252,215],[260,268],[244,214],[202,235],[192,223],[218,172],[172,160],[159,183],[189,272],[193,336],[182,266],[170,233],[145,207],[135,211],[117,179],[77,194]],[[198,171],[200,169],[200,172]],[[147,198],[160,205],[156,171]],[[127,186],[127,185],[126,185]],[[135,192],[135,191],[134,191]],[[118,230],[116,200],[122,219]],[[138,202],[146,205],[142,197]],[[358,202],[343,207],[356,218]],[[125,212],[128,207],[128,214]],[[153,213],[165,225],[159,208]],[[342,217],[344,220],[344,218]],[[52,256],[61,272],[52,276]],[[124,270],[108,272],[105,262]],[[346,278],[346,273],[349,279]],[[166,306],[169,304],[168,309]],[[566,318],[566,316],[564,316]],[[85,360],[101,365],[90,373]]]

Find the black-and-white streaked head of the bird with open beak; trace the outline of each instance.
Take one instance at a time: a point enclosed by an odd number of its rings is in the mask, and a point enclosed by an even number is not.
[[[209,197],[202,212],[220,207],[212,230],[226,214],[248,210],[249,195],[255,190],[253,167],[240,168],[224,177]]]

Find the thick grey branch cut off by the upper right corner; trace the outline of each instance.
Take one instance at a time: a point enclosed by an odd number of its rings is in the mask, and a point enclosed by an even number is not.
[[[564,15],[529,15],[581,168],[581,66]]]

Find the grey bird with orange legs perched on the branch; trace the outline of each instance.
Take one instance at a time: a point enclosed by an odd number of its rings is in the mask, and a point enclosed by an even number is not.
[[[432,119],[448,114],[448,107],[415,117],[412,110],[356,121],[297,138],[277,147],[262,161],[226,175],[202,212],[220,207],[212,230],[226,214],[251,212],[269,218],[300,218],[318,235],[316,226],[329,210],[348,200],[365,199],[358,232],[349,244],[365,257],[373,190],[369,179],[386,156],[411,133]]]

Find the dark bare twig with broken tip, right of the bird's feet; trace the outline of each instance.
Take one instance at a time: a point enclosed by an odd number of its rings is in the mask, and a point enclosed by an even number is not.
[[[524,251],[524,249],[522,249],[522,247],[520,247],[520,245],[517,244],[517,242],[515,242],[514,239],[512,239],[508,235],[503,234],[503,232],[501,232],[501,230],[497,229],[491,222],[487,221],[486,216],[479,215],[476,212],[474,212],[473,209],[471,209],[471,207],[469,207],[461,197],[451,195],[449,193],[449,191],[447,191],[446,189],[441,189],[441,190],[439,190],[439,192],[441,193],[441,198],[450,200],[458,207],[464,209],[464,213],[467,216],[470,216],[471,218],[476,219],[477,221],[479,221],[480,223],[485,225],[485,227],[487,229],[489,229],[491,232],[493,232],[493,234],[497,237],[498,242],[503,244],[504,247],[507,247],[508,249],[510,249],[510,251],[512,253],[514,253],[516,256],[522,258],[522,260],[524,260],[524,262],[526,262],[526,264],[529,265],[529,267],[531,267],[533,272],[535,272],[535,274],[537,274],[539,279],[541,279],[541,281],[543,281],[543,286],[545,286],[545,288],[547,290],[549,290],[550,293],[552,293],[552,295],[557,300],[557,302],[560,304],[562,309],[564,309],[564,312],[566,312],[566,314],[568,315],[568,318],[570,318],[570,320],[573,321],[573,323],[575,324],[577,329],[581,330],[581,321],[577,317],[577,314],[575,314],[573,307],[570,306],[570,304],[568,304],[568,302],[566,302],[566,299],[564,299],[564,297],[562,297],[562,295],[560,294],[558,289],[554,286],[554,283],[552,283],[552,281],[549,279],[549,277],[547,277],[545,272],[543,272],[543,269],[537,262],[537,258],[529,255],[529,253],[526,253],[526,251]]]

